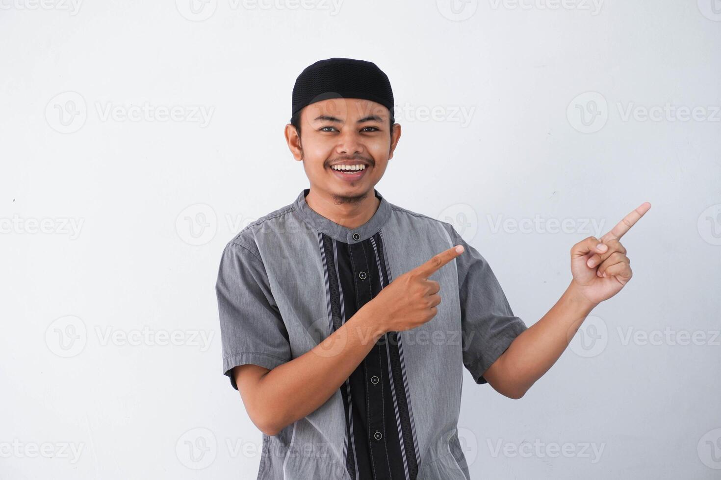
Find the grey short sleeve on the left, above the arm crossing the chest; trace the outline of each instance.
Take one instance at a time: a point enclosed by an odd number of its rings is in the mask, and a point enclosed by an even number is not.
[[[236,390],[235,366],[253,363],[273,369],[291,360],[288,332],[271,294],[265,266],[237,241],[223,250],[216,282],[223,371]]]

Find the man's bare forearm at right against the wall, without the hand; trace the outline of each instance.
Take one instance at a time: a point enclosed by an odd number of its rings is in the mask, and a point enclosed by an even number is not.
[[[548,313],[518,335],[489,368],[487,381],[508,397],[522,397],[556,363],[594,307],[571,282]]]

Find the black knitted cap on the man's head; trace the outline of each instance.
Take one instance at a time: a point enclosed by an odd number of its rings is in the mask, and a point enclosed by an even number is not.
[[[375,63],[353,58],[327,58],[309,65],[296,78],[291,117],[306,105],[340,98],[375,101],[395,116],[391,82]]]

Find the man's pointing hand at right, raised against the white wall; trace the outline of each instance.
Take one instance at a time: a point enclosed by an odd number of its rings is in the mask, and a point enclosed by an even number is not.
[[[648,212],[645,201],[599,240],[588,237],[571,248],[572,284],[593,304],[610,299],[631,279],[631,261],[619,239]]]

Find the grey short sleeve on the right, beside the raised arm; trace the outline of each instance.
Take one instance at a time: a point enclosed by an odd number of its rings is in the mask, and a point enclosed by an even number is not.
[[[461,302],[463,363],[477,384],[483,373],[528,327],[513,315],[495,274],[485,258],[451,227],[454,245],[465,250],[456,257]]]

